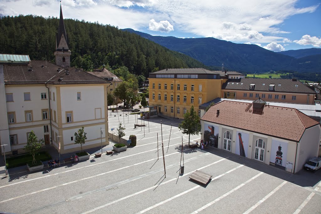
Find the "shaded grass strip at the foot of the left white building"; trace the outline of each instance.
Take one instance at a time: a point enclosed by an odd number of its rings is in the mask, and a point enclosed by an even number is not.
[[[46,151],[41,151],[39,152],[38,155],[35,155],[35,158],[37,161],[46,161],[46,160],[50,160],[51,156],[49,155],[48,152]],[[7,158],[7,168],[13,168],[13,167],[21,167],[26,165],[27,163],[31,163],[32,162],[32,155],[30,154],[25,154],[25,155],[20,155],[20,156],[16,156],[16,157],[12,157],[12,158]]]

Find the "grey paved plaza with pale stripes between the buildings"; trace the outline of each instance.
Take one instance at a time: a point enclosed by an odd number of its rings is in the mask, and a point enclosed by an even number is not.
[[[126,113],[108,111],[109,132],[117,133],[122,122],[125,139],[136,135],[135,147],[100,158],[92,153],[88,161],[32,174],[9,170],[10,176],[0,180],[0,212],[320,213],[321,170],[291,174],[212,147],[189,149],[188,136],[178,129],[180,120],[142,121]],[[134,129],[134,124],[146,126]],[[182,136],[185,170],[179,175]],[[200,139],[190,136],[190,143]],[[212,179],[207,185],[190,180],[195,170]]]

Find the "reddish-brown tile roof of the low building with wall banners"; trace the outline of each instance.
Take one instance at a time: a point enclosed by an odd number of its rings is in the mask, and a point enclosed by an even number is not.
[[[226,100],[212,106],[201,120],[296,142],[306,128],[319,125],[294,108],[265,106],[263,111],[257,111],[253,104]]]

